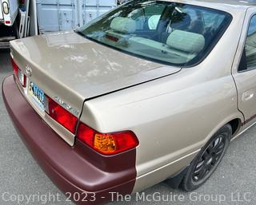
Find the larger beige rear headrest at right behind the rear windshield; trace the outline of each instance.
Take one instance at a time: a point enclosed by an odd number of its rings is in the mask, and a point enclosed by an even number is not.
[[[205,37],[201,34],[174,30],[167,38],[166,45],[187,53],[199,53],[204,48],[205,41]]]

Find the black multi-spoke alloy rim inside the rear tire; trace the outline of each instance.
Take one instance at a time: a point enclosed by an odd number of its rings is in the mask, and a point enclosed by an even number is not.
[[[195,183],[198,183],[207,178],[211,171],[214,171],[214,168],[218,166],[220,160],[222,160],[222,154],[225,150],[226,138],[223,135],[220,135],[206,148],[203,152],[198,164],[194,168],[192,179]]]

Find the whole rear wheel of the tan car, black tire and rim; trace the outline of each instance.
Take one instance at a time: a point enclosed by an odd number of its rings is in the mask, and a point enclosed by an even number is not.
[[[222,161],[231,136],[232,128],[230,124],[226,124],[208,141],[190,164],[180,186],[182,190],[194,191],[210,178]]]

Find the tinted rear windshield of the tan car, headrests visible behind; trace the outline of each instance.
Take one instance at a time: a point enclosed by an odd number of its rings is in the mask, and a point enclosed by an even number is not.
[[[137,57],[189,67],[210,53],[231,19],[206,7],[140,0],[119,6],[77,32]]]

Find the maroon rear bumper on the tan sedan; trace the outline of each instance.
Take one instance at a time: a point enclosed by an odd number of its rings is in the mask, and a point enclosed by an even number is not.
[[[64,193],[75,195],[75,200],[80,195],[80,200],[76,203],[106,203],[112,199],[110,192],[124,195],[133,191],[136,178],[135,149],[106,157],[79,140],[74,147],[70,147],[28,104],[13,76],[6,77],[3,81],[2,97],[26,147],[46,175]],[[86,197],[84,192],[90,194]]]

